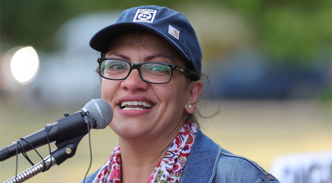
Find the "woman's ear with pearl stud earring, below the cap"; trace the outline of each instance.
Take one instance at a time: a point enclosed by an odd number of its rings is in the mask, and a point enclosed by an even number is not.
[[[187,99],[187,103],[185,106],[185,110],[187,111],[187,113],[192,114],[195,111],[197,102],[199,100],[199,97],[202,93],[202,81],[198,80],[198,81],[192,81],[189,84],[189,96]]]

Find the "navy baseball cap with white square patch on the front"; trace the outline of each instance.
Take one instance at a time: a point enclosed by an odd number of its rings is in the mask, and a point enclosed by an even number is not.
[[[202,51],[188,19],[167,7],[140,6],[125,10],[116,23],[98,31],[90,40],[91,48],[106,52],[110,41],[119,33],[146,31],[167,40],[181,55],[201,71]]]

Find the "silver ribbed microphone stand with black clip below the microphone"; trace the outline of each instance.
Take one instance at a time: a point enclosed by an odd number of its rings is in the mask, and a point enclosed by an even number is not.
[[[35,164],[31,168],[21,172],[17,176],[13,176],[12,178],[4,181],[3,183],[21,183],[56,164],[60,165],[68,158],[75,155],[77,146],[84,136],[85,134],[62,143],[56,143],[58,148],[53,150],[51,155],[47,156],[43,159],[43,161]]]

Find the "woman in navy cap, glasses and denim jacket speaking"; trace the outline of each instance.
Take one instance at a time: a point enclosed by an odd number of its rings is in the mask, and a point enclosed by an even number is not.
[[[85,182],[279,182],[194,125],[202,53],[184,15],[131,8],[90,46],[101,52],[101,97],[114,110],[119,146]]]

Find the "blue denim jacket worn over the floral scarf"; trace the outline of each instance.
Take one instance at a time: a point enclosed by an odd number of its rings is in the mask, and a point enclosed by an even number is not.
[[[90,174],[85,182],[92,183],[97,173],[98,170]],[[197,128],[195,142],[180,179],[180,183],[194,182],[277,183],[279,181],[256,162],[221,148]]]

